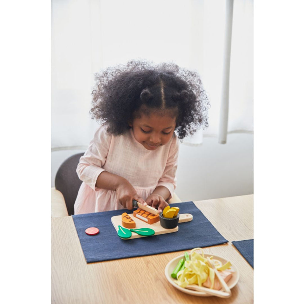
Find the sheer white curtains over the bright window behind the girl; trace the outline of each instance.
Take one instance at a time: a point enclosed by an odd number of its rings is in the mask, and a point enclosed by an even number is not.
[[[94,74],[131,59],[174,61],[199,72],[217,136],[225,0],[52,0],[52,149],[85,148],[98,127],[89,115]],[[253,1],[234,0],[229,132],[253,132]]]

